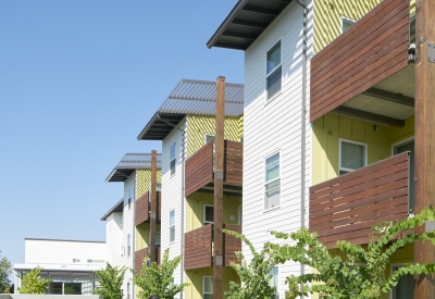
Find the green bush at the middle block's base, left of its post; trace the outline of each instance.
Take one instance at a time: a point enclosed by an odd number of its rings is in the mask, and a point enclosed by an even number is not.
[[[152,295],[160,296],[161,299],[173,299],[175,295],[183,291],[189,284],[174,285],[172,276],[175,269],[182,261],[182,256],[173,260],[169,260],[170,250],[163,253],[163,260],[160,264],[153,262],[148,266],[148,259],[144,260],[142,267],[139,272],[134,273],[134,284],[141,290],[138,294],[139,299],[148,299]]]

